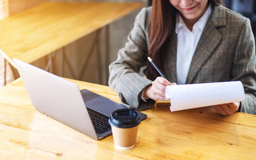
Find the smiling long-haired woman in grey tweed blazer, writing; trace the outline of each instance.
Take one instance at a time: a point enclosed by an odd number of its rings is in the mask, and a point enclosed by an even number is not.
[[[109,86],[129,108],[150,108],[172,84],[241,81],[245,100],[213,106],[221,115],[256,114],[255,45],[250,20],[221,0],[155,0],[137,15],[109,65]],[[163,72],[160,77],[147,61]],[[146,67],[147,66],[147,67]],[[141,67],[146,67],[141,77]]]

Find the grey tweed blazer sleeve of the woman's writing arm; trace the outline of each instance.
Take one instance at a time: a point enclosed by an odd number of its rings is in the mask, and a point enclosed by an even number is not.
[[[125,47],[118,51],[117,60],[109,65],[109,86],[118,93],[122,104],[138,110],[148,109],[156,102],[141,99],[143,89],[150,86],[152,81],[138,74],[141,67],[147,65],[147,26],[148,9],[143,8],[136,16]]]

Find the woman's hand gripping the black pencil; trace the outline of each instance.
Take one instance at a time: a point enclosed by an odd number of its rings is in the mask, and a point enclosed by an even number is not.
[[[163,100],[165,99],[165,88],[169,85],[176,85],[176,83],[170,83],[167,79],[163,77],[157,77],[155,81],[152,82],[151,86],[148,86],[143,97],[145,99]]]

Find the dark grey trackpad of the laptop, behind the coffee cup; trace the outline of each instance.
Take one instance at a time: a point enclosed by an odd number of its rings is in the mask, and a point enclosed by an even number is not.
[[[116,102],[113,102],[112,100],[101,96],[86,101],[85,105],[86,107],[99,111],[106,116],[111,116],[113,111],[115,111],[116,109],[126,108],[122,104],[118,104]]]

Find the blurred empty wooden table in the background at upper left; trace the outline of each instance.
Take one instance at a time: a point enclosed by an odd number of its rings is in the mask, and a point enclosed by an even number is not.
[[[108,24],[141,6],[140,2],[42,3],[0,20],[0,53],[13,67],[12,58],[31,63],[104,26],[108,32]],[[109,34],[106,35],[109,65]]]

